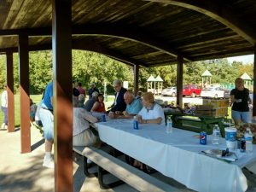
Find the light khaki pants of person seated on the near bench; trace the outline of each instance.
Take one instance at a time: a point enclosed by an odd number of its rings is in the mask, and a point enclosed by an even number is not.
[[[97,137],[90,129],[87,129],[79,135],[73,136],[73,146],[90,146],[96,143]]]

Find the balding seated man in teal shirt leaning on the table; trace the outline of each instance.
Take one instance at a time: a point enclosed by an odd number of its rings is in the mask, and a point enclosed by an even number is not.
[[[131,91],[126,91],[124,95],[126,109],[119,113],[109,113],[109,118],[132,118],[143,108],[141,99],[136,99]]]

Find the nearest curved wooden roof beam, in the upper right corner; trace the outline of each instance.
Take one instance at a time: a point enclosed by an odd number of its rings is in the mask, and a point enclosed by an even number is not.
[[[177,5],[187,9],[193,9],[204,15],[218,20],[225,26],[228,26],[234,32],[245,38],[250,44],[256,44],[256,34],[246,25],[245,20],[239,20],[236,12],[228,6],[223,0],[206,1],[206,0],[143,0],[157,3],[166,3]]]

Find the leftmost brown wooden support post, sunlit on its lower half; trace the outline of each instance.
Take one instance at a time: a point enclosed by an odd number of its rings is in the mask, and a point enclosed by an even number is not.
[[[8,131],[15,131],[15,91],[13,53],[6,53],[7,93],[8,93]]]

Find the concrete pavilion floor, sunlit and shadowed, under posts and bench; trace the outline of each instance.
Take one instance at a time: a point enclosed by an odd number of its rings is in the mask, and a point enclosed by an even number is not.
[[[54,170],[42,166],[44,158],[44,140],[39,131],[35,128],[32,131],[32,153],[20,154],[20,130],[8,133],[6,130],[0,130],[0,191],[1,192],[48,192],[54,191]],[[103,190],[100,189],[96,177],[87,178],[83,173],[82,158],[76,155],[74,166],[74,191],[79,192],[98,192],[98,191],[116,191],[133,192],[136,189],[127,184],[119,187]],[[92,168],[94,169],[94,168]],[[247,191],[256,191],[256,176],[243,170],[248,179]],[[159,172],[154,173],[166,183],[170,183],[181,191],[192,191],[183,184],[175,180],[164,177]],[[107,176],[107,182],[114,180],[112,176]]]

